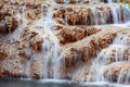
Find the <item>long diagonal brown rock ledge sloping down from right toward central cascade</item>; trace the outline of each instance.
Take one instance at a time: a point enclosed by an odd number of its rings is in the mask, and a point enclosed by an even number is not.
[[[65,74],[73,76],[75,69],[80,67],[82,64],[91,63],[98,52],[108,47],[116,37],[116,34],[122,30],[122,28],[119,27],[99,28],[102,30],[96,34],[84,37],[78,41],[62,45],[62,49],[65,53],[65,70],[67,70],[66,72],[64,71]],[[113,28],[113,30],[110,28]],[[80,33],[77,33],[77,35],[78,34]]]

